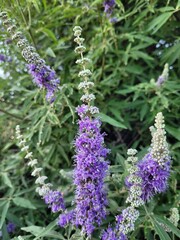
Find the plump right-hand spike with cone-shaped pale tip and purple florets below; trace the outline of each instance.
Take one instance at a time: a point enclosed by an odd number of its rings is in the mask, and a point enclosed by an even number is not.
[[[164,117],[158,113],[155,127],[151,128],[152,143],[148,154],[138,163],[142,179],[142,199],[150,200],[156,193],[166,191],[170,175],[170,156],[164,129]]]

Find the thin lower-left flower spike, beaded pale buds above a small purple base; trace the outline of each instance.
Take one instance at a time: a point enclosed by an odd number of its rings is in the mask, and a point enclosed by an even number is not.
[[[65,204],[62,193],[59,191],[51,190],[51,183],[45,183],[48,177],[45,175],[41,175],[41,171],[43,169],[37,167],[38,160],[33,158],[32,152],[29,152],[29,146],[21,135],[19,125],[16,126],[16,136],[19,141],[21,151],[26,153],[25,159],[29,159],[27,165],[33,168],[31,175],[36,177],[35,184],[38,185],[38,187],[36,188],[36,192],[44,199],[45,203],[48,205],[49,208],[51,208],[51,211],[53,213],[64,211]]]

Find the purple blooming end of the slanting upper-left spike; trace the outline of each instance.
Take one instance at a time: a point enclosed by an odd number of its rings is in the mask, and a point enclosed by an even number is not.
[[[54,93],[58,88],[60,80],[56,78],[56,73],[49,66],[43,66],[40,70],[35,64],[28,64],[29,73],[33,77],[34,83],[47,90],[46,98],[48,101],[54,101]]]

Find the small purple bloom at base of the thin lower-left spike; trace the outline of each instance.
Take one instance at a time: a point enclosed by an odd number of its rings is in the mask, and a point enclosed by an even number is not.
[[[53,213],[65,210],[64,199],[61,192],[50,190],[43,198]]]

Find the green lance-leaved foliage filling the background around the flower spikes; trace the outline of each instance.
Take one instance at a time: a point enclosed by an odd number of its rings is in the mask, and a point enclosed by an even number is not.
[[[0,0],[1,10],[16,19],[20,30],[61,78],[57,98],[50,106],[44,100],[45,93],[32,84],[19,49],[14,43],[4,43],[9,37],[0,25],[0,54],[12,58],[11,62],[0,62],[0,228],[6,240],[12,239],[6,231],[8,221],[17,225],[14,240],[19,235],[37,240],[83,239],[79,229],[56,226],[57,216],[50,214],[35,193],[31,170],[14,138],[19,124],[45,174],[56,188],[62,189],[67,207],[71,208],[75,107],[80,104],[72,31],[75,25],[83,28],[92,60],[96,105],[111,149],[110,176],[106,181],[110,214],[102,227],[113,222],[125,206],[127,148],[137,148],[142,158],[150,145],[148,128],[156,113],[162,111],[173,160],[169,189],[148,204],[152,215],[140,209],[130,239],[179,237],[178,229],[162,216],[168,216],[170,208],[179,204],[180,2],[117,0],[112,14],[116,23],[103,13],[102,2]],[[165,43],[159,44],[160,40]],[[158,87],[156,80],[165,63],[170,65],[169,79]],[[159,222],[172,232],[166,233]],[[99,239],[99,233],[95,232],[92,239]]]

